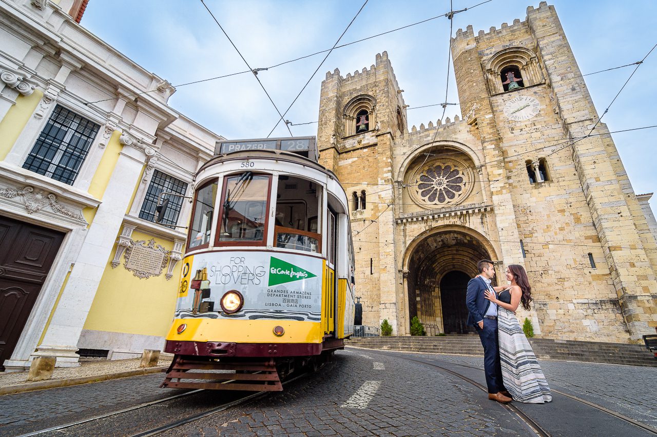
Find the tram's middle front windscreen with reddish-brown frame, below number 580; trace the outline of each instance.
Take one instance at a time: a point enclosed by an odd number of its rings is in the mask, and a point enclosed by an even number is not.
[[[225,178],[217,242],[264,243],[269,176],[251,172]]]

